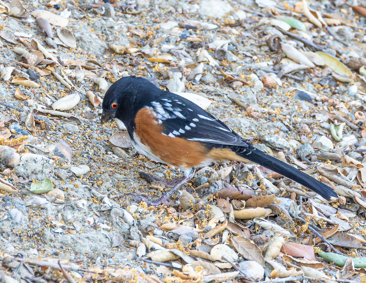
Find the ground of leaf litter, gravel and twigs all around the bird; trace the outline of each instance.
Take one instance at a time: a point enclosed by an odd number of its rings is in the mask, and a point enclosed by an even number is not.
[[[0,1],[0,279],[362,282],[365,6],[170,2]],[[223,162],[169,206],[134,202],[128,193],[165,189],[139,172],[181,173],[99,125],[104,93],[132,74],[340,198],[327,204],[265,168]]]

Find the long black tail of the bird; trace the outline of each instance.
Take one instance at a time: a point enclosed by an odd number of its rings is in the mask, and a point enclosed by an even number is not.
[[[245,159],[258,163],[263,167],[273,170],[287,178],[290,178],[291,180],[294,180],[295,182],[300,183],[315,193],[320,194],[328,201],[330,201],[330,197],[339,197],[332,188],[319,182],[317,179],[277,159],[276,157],[270,156],[258,149],[253,148],[252,146],[231,146],[230,149]]]

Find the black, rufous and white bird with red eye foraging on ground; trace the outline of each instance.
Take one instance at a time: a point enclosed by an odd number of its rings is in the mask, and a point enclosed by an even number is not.
[[[115,120],[127,129],[134,148],[151,160],[184,172],[184,178],[160,199],[136,195],[150,205],[166,202],[193,178],[195,168],[220,160],[258,163],[302,186],[325,200],[337,193],[317,179],[284,161],[256,149],[219,119],[178,94],[160,89],[143,77],[120,78],[105,93],[101,124]]]

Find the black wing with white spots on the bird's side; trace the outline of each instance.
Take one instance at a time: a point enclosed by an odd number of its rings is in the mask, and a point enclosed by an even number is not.
[[[147,107],[154,110],[158,123],[164,126],[164,135],[190,141],[248,146],[223,122],[186,98],[170,92],[156,98]]]

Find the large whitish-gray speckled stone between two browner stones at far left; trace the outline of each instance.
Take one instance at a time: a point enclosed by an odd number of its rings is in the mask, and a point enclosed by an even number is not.
[[[24,153],[20,156],[20,163],[14,167],[17,175],[29,179],[43,180],[55,173],[55,161],[43,155]]]

